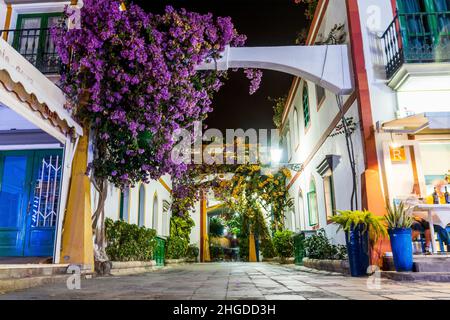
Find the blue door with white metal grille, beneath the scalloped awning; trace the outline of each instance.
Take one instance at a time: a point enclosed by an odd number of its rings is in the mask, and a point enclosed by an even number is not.
[[[0,256],[53,255],[62,151],[0,152]]]

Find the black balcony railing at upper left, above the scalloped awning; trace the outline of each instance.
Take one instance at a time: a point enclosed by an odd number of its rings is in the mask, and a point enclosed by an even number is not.
[[[25,59],[43,74],[59,74],[61,61],[50,36],[50,29],[0,30],[6,39]]]

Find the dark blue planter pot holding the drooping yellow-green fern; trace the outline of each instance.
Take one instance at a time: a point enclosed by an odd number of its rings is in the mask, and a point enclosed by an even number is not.
[[[363,233],[363,230],[363,225],[357,225],[352,227],[345,237],[352,277],[367,275],[369,267],[369,232]]]

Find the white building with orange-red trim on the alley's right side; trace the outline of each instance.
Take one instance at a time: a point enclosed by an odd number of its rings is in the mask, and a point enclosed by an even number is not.
[[[358,209],[383,215],[414,186],[429,196],[450,170],[450,3],[319,0],[307,45],[336,24],[345,27],[355,83],[342,101],[357,124]],[[289,162],[303,169],[289,183],[296,206],[287,219],[293,230],[325,228],[342,242],[328,223],[334,210],[350,209],[352,191],[346,139],[330,136],[339,123],[336,96],[296,78],[281,131]]]

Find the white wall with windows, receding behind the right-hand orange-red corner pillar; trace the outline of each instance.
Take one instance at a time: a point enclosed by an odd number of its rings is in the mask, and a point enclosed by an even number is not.
[[[348,23],[345,1],[330,1],[328,4],[327,12],[325,13],[324,19],[322,21],[322,25],[319,29],[319,34],[322,34],[323,37],[326,38],[330,30],[336,24],[342,23],[345,24],[348,41]],[[333,242],[345,243],[345,236],[343,232],[336,234],[337,227],[332,224],[328,224],[327,222],[323,178],[317,172],[317,166],[325,159],[327,155],[337,155],[341,157],[339,165],[333,171],[335,207],[337,210],[350,209],[352,173],[344,135],[341,134],[335,137],[329,136],[328,138],[326,138],[320,148],[315,151],[315,148],[319,145],[320,142],[322,142],[324,133],[329,130],[333,120],[339,115],[336,96],[333,93],[326,91],[326,98],[320,105],[319,109],[316,99],[315,84],[307,82],[309,90],[311,123],[310,126],[305,129],[302,104],[303,83],[303,81],[300,83],[295,93],[292,106],[287,117],[288,123],[286,121],[286,125],[289,125],[290,131],[296,131],[293,129],[293,117],[294,107],[297,107],[297,111],[299,114],[299,128],[297,131],[299,133],[299,137],[297,139],[294,139],[292,137],[291,141],[298,141],[298,145],[293,143],[293,145],[291,146],[293,155],[290,162],[305,164],[310,155],[313,155],[311,161],[309,163],[306,163],[306,166],[304,167],[301,175],[289,189],[291,196],[294,198],[296,229],[313,229],[313,227],[309,225],[307,194],[310,191],[311,179],[314,179],[316,184],[317,204],[319,212],[319,225],[314,228],[324,228],[328,237],[331,238]],[[345,102],[348,98],[348,96],[343,97],[343,101]],[[346,116],[353,117],[354,121],[359,123],[359,111],[356,101],[349,108]],[[286,132],[284,132],[284,134],[285,133]],[[352,139],[355,149],[355,161],[357,164],[358,202],[359,204],[361,204],[361,188],[359,177],[364,172],[365,167],[364,152],[361,140],[362,138],[359,127],[352,135]],[[292,172],[292,174],[295,175],[295,172]],[[300,194],[302,194],[303,197],[303,204],[300,203]]]

